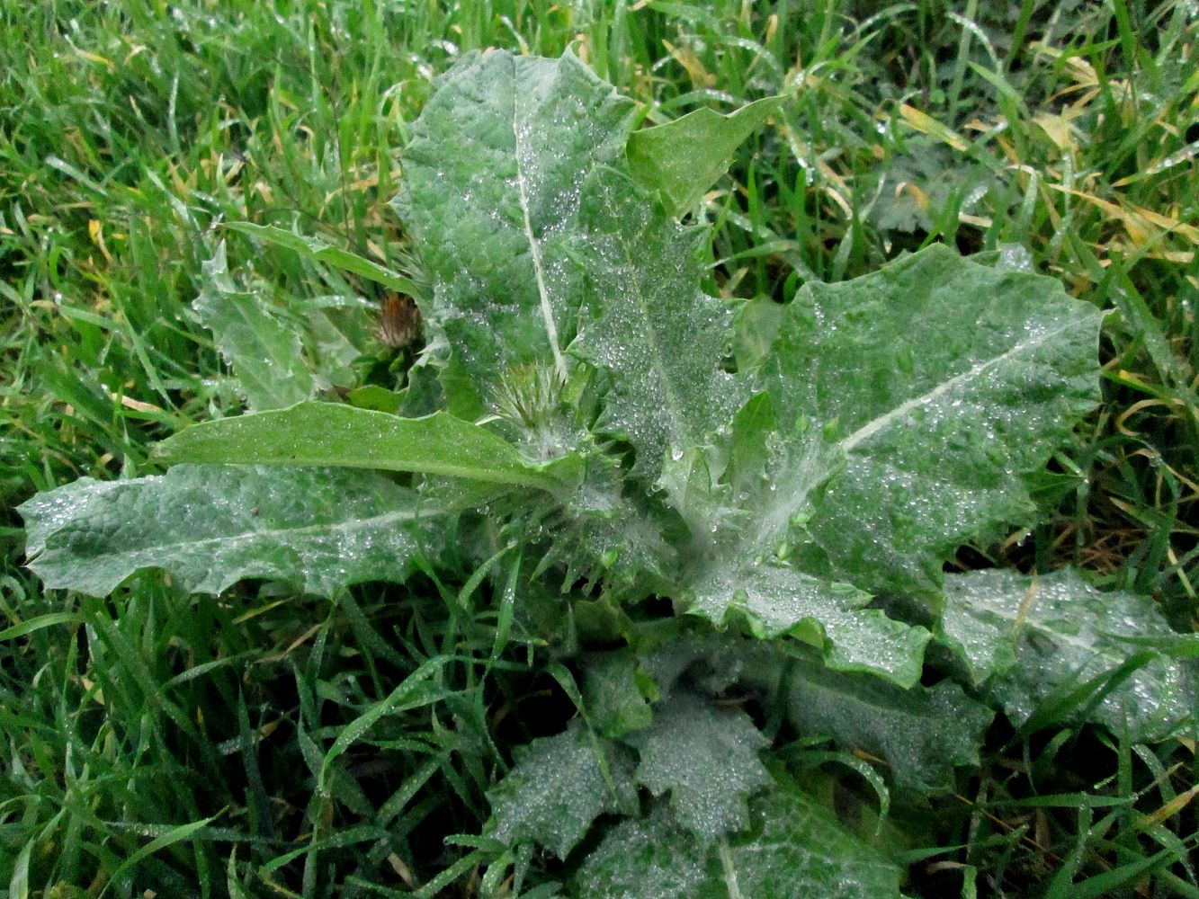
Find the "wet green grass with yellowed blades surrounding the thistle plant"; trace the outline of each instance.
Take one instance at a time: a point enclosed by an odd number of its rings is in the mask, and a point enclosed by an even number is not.
[[[16,511],[77,478],[159,473],[156,442],[242,410],[247,379],[198,297],[282,322],[269,378],[301,352],[326,399],[384,376],[361,352],[391,290],[228,225],[415,272],[387,205],[404,146],[433,79],[493,47],[571,49],[646,125],[789,98],[698,213],[713,296],[788,302],[942,242],[1105,310],[1103,403],[1030,479],[1041,523],[947,571],[1076,565],[1199,630],[1193,0],[0,0],[14,899],[570,895],[568,863],[478,837],[513,747],[576,711],[571,659],[494,651],[487,568],[336,602],[269,580],[194,596],[146,572],[101,599],[42,587]],[[423,664],[434,693],[400,702]],[[893,791],[878,827],[888,772],[868,753],[840,746],[805,783],[903,865],[908,895],[1199,897],[1194,734],[1079,724],[1090,699],[1000,718],[980,767]]]

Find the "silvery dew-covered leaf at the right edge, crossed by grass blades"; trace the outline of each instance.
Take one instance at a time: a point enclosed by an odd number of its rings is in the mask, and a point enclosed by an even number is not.
[[[1031,578],[981,571],[946,578],[941,627],[976,682],[1017,723],[1050,694],[1114,671],[1146,645],[1120,638],[1176,636],[1153,601],[1103,592],[1071,569]],[[1194,728],[1199,680],[1193,663],[1165,656],[1134,670],[1091,711],[1114,732],[1135,741],[1164,740]]]

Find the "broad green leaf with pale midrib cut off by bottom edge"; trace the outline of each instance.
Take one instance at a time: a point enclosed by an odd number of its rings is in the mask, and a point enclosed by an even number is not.
[[[748,833],[705,846],[664,806],[617,825],[574,876],[579,899],[898,899],[899,868],[791,786],[751,803]]]

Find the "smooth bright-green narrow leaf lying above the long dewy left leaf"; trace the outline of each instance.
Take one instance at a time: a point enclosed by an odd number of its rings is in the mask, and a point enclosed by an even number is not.
[[[561,489],[577,472],[571,457],[553,464],[529,461],[486,428],[446,412],[400,418],[317,402],[195,424],[159,444],[155,458],[418,471],[548,490]]]

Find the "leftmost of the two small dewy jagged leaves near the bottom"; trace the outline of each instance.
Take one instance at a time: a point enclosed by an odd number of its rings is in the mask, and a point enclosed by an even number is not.
[[[592,737],[578,718],[532,741],[487,795],[488,834],[508,845],[532,840],[566,858],[601,814],[635,808],[631,756],[627,747]]]

